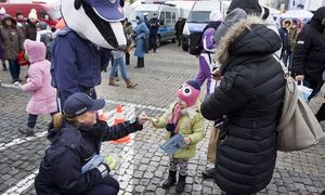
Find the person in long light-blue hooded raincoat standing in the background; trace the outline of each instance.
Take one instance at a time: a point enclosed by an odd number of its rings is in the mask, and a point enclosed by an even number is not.
[[[138,56],[138,65],[135,67],[144,67],[144,53],[145,53],[145,39],[150,34],[148,28],[144,23],[144,17],[142,14],[135,17],[136,27],[134,28],[135,32],[135,51],[134,56]]]

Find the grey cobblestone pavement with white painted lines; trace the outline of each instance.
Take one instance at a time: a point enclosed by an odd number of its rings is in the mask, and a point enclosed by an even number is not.
[[[135,58],[131,63],[135,64]],[[135,109],[150,116],[161,115],[173,100],[179,86],[197,72],[197,60],[176,44],[165,44],[158,53],[145,56],[145,68],[128,67],[132,80],[139,83],[136,89],[120,86],[108,87],[108,73],[103,74],[103,82],[98,87],[99,96],[107,100],[106,109],[117,104],[126,113]],[[25,76],[26,67],[22,76]],[[0,70],[0,80],[9,83],[8,72]],[[46,127],[49,116],[41,116],[36,127],[36,136],[20,134],[17,128],[25,126],[26,104],[30,95],[16,89],[0,87],[0,193],[36,194],[34,178],[37,173],[44,148],[49,146]],[[322,99],[312,103],[316,109]],[[128,114],[127,114],[128,115]],[[131,117],[131,115],[129,115]],[[127,116],[128,117],[128,116]],[[190,160],[186,188],[183,194],[220,194],[212,180],[204,180],[202,170],[212,167],[207,164],[207,144],[210,134],[206,122],[207,135],[198,144],[196,156]],[[104,143],[102,154],[119,156],[117,168],[112,174],[120,182],[120,194],[174,194],[174,187],[161,188],[167,178],[168,156],[159,146],[164,143],[164,130],[155,131],[151,125],[132,135],[129,144],[115,145]],[[258,194],[318,194],[325,190],[325,144],[294,153],[278,153],[273,179],[265,190]]]

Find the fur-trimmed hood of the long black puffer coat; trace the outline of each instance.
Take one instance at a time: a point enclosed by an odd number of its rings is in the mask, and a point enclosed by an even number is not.
[[[274,30],[266,27],[264,21],[249,15],[230,27],[225,36],[221,38],[217,61],[222,66],[226,66],[227,62],[234,57],[272,54],[281,46],[281,38]]]

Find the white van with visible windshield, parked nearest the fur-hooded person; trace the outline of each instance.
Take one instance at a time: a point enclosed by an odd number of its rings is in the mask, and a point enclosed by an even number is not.
[[[188,36],[203,31],[210,22],[210,13],[216,10],[221,12],[221,1],[195,1],[183,29],[182,47],[184,51],[188,50]]]

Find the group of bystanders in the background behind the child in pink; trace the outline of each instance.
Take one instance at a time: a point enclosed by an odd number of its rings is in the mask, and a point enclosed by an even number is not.
[[[22,82],[18,54],[25,52],[24,40],[43,42],[47,47],[47,58],[50,60],[51,42],[54,39],[54,30],[47,23],[38,21],[37,11],[31,9],[26,18],[17,11],[15,17],[5,13],[2,8],[0,57],[2,69],[6,70],[9,64],[12,82]],[[27,78],[27,76],[26,76]]]

